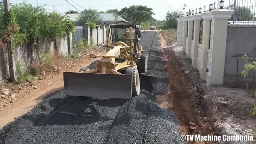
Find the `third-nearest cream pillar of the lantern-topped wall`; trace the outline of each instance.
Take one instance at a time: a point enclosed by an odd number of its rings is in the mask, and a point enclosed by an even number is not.
[[[198,44],[199,44],[199,31],[200,31],[200,21],[202,19],[201,14],[193,15],[194,18],[194,33],[193,40],[191,45],[191,60],[192,65],[197,67],[197,57],[198,57]]]

